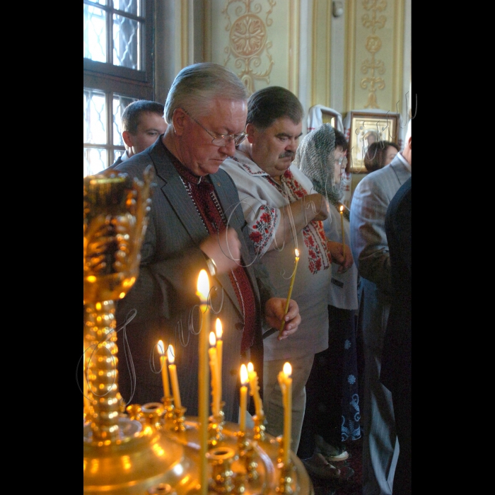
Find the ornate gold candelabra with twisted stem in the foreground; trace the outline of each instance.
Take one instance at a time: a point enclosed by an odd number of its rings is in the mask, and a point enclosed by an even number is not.
[[[122,410],[115,301],[139,273],[153,179],[151,165],[143,180],[113,170],[84,178],[84,493],[313,495],[303,464],[293,453],[281,462],[280,439],[264,433],[262,418],[240,432],[223,412],[210,417],[202,487],[196,417],[185,417],[171,397]]]

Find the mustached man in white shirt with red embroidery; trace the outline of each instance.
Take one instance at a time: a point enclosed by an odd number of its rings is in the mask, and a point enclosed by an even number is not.
[[[267,267],[278,297],[287,297],[299,260],[292,298],[298,302],[298,332],[280,341],[265,332],[263,407],[267,432],[279,436],[284,429],[284,405],[277,375],[284,363],[292,366],[292,445],[297,452],[305,411],[305,384],[316,353],[328,347],[327,293],[330,253],[322,220],[329,214],[322,194],[295,165],[302,134],[303,107],[291,91],[279,86],[263,88],[248,100],[245,141],[221,165],[238,188],[240,204],[260,261]],[[339,244],[339,243],[336,243]],[[333,253],[332,253],[333,254]],[[340,261],[342,255],[337,253]]]

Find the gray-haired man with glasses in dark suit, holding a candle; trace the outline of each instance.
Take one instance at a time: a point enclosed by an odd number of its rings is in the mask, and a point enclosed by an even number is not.
[[[139,276],[117,304],[118,380],[125,403],[159,402],[163,395],[159,340],[173,344],[182,406],[198,415],[199,332],[223,327],[223,413],[238,422],[240,364],[252,361],[262,380],[262,327],[281,339],[296,332],[301,316],[274,290],[245,231],[238,191],[219,167],[245,138],[248,94],[240,79],[219,64],[187,66],[165,103],[168,128],[155,144],[115,167],[142,177],[156,172]],[[213,328],[201,328],[197,280],[209,272]],[[133,318],[134,317],[134,318]],[[124,359],[125,358],[125,359]],[[260,385],[262,386],[262,385]]]

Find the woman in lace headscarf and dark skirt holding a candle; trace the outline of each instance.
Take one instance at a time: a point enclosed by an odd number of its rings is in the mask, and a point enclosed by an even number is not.
[[[347,148],[342,132],[330,124],[322,124],[304,137],[294,160],[312,180],[315,192],[327,197],[330,216],[324,221],[325,235],[327,240],[345,245],[346,258],[351,256],[349,209],[342,203],[341,177],[347,163]],[[361,437],[356,352],[356,310],[359,305],[356,264],[352,262],[346,269],[333,262],[331,277],[328,349],[315,355],[306,384],[306,409],[298,449],[299,457],[307,459],[305,465],[314,474],[322,471],[322,457],[327,462],[349,458],[344,441]]]

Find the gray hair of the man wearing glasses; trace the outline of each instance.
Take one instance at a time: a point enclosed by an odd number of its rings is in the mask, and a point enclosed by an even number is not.
[[[210,112],[211,100],[248,100],[249,93],[231,70],[212,62],[184,67],[175,77],[165,101],[165,117],[172,122],[173,112],[182,108],[194,117]]]

